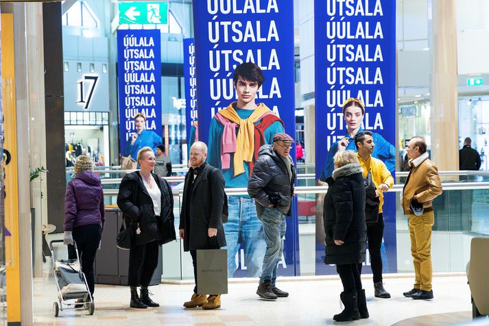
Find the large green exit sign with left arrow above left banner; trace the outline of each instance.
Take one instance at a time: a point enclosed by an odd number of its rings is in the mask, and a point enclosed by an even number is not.
[[[119,24],[167,23],[167,2],[119,2]]]

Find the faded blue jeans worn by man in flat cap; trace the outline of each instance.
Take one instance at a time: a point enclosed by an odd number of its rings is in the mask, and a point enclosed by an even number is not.
[[[283,239],[287,223],[285,223],[285,216],[276,208],[265,208],[261,221],[263,223],[263,234],[267,244],[267,251],[265,251],[265,257],[263,258],[260,283],[271,281],[273,287],[277,279],[277,265],[282,258]]]

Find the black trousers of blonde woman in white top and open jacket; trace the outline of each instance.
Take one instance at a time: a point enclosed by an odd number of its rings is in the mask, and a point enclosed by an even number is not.
[[[129,286],[149,286],[158,266],[158,240],[133,246],[129,250]]]

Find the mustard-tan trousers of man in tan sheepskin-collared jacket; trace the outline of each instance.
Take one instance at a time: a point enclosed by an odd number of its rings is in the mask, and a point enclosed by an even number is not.
[[[421,216],[409,214],[409,236],[414,263],[414,288],[431,290],[433,268],[431,267],[431,228],[435,223],[433,211]]]

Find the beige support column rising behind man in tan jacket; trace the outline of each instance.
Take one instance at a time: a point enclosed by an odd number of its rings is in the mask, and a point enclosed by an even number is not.
[[[455,0],[433,0],[431,158],[458,170],[457,17]]]

